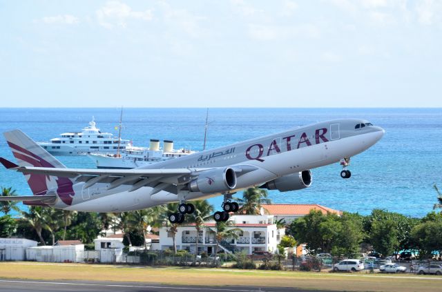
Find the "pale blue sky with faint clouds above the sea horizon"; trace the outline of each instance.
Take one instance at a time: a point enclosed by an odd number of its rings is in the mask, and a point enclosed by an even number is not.
[[[442,107],[442,1],[0,0],[1,107]]]

